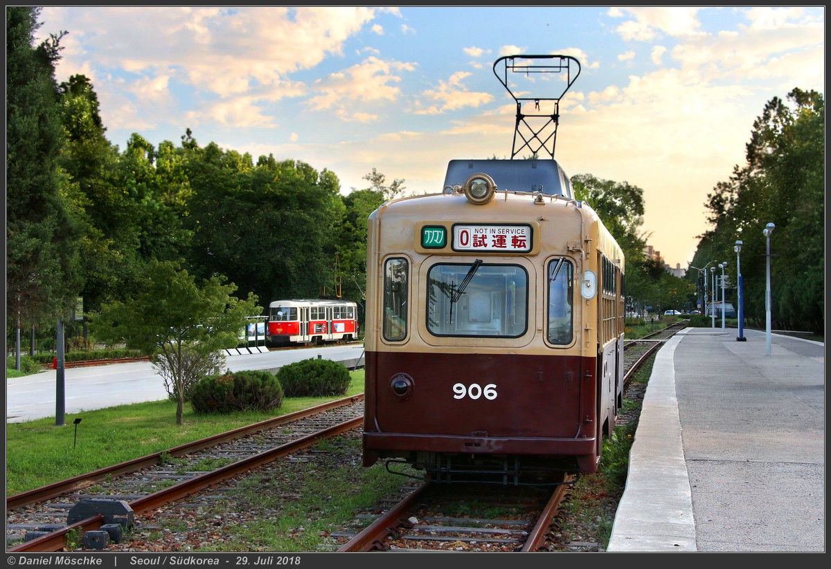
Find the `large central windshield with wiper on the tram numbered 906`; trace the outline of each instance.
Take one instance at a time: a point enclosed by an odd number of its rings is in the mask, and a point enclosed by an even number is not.
[[[433,265],[428,275],[427,329],[436,336],[517,338],[528,320],[528,273],[482,260]]]

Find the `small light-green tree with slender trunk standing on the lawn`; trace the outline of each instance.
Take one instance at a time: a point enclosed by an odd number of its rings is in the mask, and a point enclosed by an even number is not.
[[[184,399],[199,378],[189,366],[194,355],[211,359],[211,354],[238,343],[246,317],[262,312],[257,297],[234,297],[233,283],[213,277],[197,285],[193,276],[170,261],[151,262],[143,288],[127,302],[106,303],[100,313],[91,314],[91,328],[101,341],[124,341],[128,348],[149,353],[172,377],[177,395],[176,424],[182,424]]]

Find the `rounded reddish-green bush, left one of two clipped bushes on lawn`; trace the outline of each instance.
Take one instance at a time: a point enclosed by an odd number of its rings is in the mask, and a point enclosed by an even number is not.
[[[268,411],[283,405],[283,387],[266,370],[203,377],[190,387],[189,396],[190,405],[198,413]]]

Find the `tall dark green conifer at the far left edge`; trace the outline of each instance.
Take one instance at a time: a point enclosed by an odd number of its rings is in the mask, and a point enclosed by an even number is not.
[[[39,14],[39,7],[6,8],[6,307],[18,338],[23,322],[68,314],[83,285],[82,230],[66,197],[71,181],[57,163],[64,139],[54,75],[63,32],[33,48]]]

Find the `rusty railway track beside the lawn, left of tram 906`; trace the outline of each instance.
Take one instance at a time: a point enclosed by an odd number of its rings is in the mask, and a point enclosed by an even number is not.
[[[348,397],[10,496],[8,551],[61,551],[73,532],[188,498],[362,423],[363,396]]]

